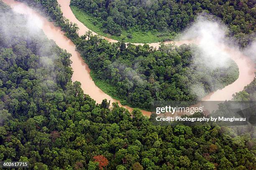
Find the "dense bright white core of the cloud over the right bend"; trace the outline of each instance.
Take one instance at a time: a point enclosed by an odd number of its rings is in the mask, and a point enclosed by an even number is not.
[[[200,56],[204,65],[214,70],[228,65],[230,56],[224,49],[224,43],[228,41],[225,36],[228,28],[210,18],[199,15],[195,23],[183,32],[182,39],[196,39],[198,48],[192,50],[193,57]],[[194,61],[196,65],[199,64],[197,60]]]

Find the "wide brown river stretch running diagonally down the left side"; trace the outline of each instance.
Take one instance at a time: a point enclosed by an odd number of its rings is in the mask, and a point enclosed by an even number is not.
[[[41,14],[39,14],[31,7],[28,7],[22,2],[14,0],[3,0],[3,2],[10,5],[13,8],[13,10],[17,13],[26,14],[29,15],[30,17],[35,18],[36,20],[40,20],[41,24],[37,26],[41,27],[45,35],[49,39],[54,40],[59,47],[63,48],[64,50],[67,50],[67,52],[72,54],[72,57],[70,57],[70,60],[72,60],[71,67],[74,71],[72,75],[72,81],[81,82],[84,93],[90,95],[97,103],[101,103],[103,99],[107,99],[108,101],[110,100],[111,103],[118,102],[119,105],[121,105],[119,101],[105,94],[102,90],[100,90],[99,87],[95,85],[95,83],[92,80],[92,77],[90,76],[90,68],[84,62],[80,53],[75,50],[74,43],[64,35],[64,32],[61,31],[60,27],[55,27],[53,22],[49,22]],[[87,30],[84,29],[84,32],[85,31]],[[127,108],[129,111],[133,110],[131,107],[128,106],[124,107]],[[145,110],[142,110],[142,112],[144,115],[151,114],[151,112],[147,112]]]

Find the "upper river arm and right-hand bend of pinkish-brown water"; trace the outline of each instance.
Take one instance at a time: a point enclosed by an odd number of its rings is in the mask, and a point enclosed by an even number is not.
[[[61,11],[63,11],[64,17],[68,18],[71,22],[76,23],[79,26],[79,35],[83,35],[85,31],[89,30],[83,23],[81,23],[72,13],[71,8],[69,7],[70,0],[58,0],[59,4],[61,5]],[[94,35],[96,33],[94,32]],[[117,42],[117,40],[110,39],[108,37],[104,37],[109,42]],[[175,45],[182,45],[182,44],[191,44],[195,43],[198,44],[200,40],[181,40],[181,41],[167,41],[164,42],[165,44],[168,43],[175,43]],[[143,45],[142,43],[133,43],[135,45]],[[160,43],[150,43],[152,47],[158,48]],[[208,94],[207,96],[203,97],[202,100],[204,101],[225,101],[231,100],[232,95],[236,92],[243,90],[243,87],[248,85],[255,76],[255,64],[254,62],[247,56],[243,55],[239,50],[230,48],[225,46],[224,44],[219,45],[221,50],[227,52],[231,59],[233,59],[236,64],[238,65],[239,69],[239,77],[238,79],[233,82],[232,84],[224,87],[221,90],[217,90]]]

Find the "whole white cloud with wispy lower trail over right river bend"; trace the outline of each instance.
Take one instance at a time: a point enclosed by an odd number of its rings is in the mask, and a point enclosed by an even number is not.
[[[228,76],[225,73],[230,66],[235,64],[230,59],[233,56],[230,55],[227,47],[238,51],[239,49],[231,45],[234,43],[226,36],[227,32],[228,28],[220,20],[204,14],[198,15],[195,22],[182,33],[181,40],[195,40],[196,46],[191,48],[192,64],[189,67],[195,70],[193,74],[199,78],[193,82],[190,90],[197,95],[199,100],[206,95],[205,83],[210,91],[224,87],[225,84],[218,82],[215,77]]]

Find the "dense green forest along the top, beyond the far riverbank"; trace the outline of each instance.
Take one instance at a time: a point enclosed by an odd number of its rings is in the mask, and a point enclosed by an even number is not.
[[[95,25],[111,35],[121,35],[122,30],[163,32],[159,36],[178,33],[198,14],[210,13],[229,25],[229,35],[244,47],[256,28],[253,0],[71,0],[70,5],[90,14]],[[83,19],[82,15],[76,17]],[[131,38],[130,34],[127,36]]]

